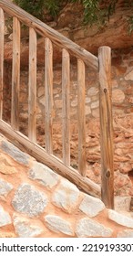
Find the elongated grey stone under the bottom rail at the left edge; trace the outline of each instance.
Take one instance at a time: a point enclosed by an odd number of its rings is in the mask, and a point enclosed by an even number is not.
[[[29,155],[23,153],[19,150],[15,145],[10,144],[9,142],[2,141],[0,143],[0,148],[7,154],[13,157],[13,159],[22,165],[28,165],[29,163]]]

